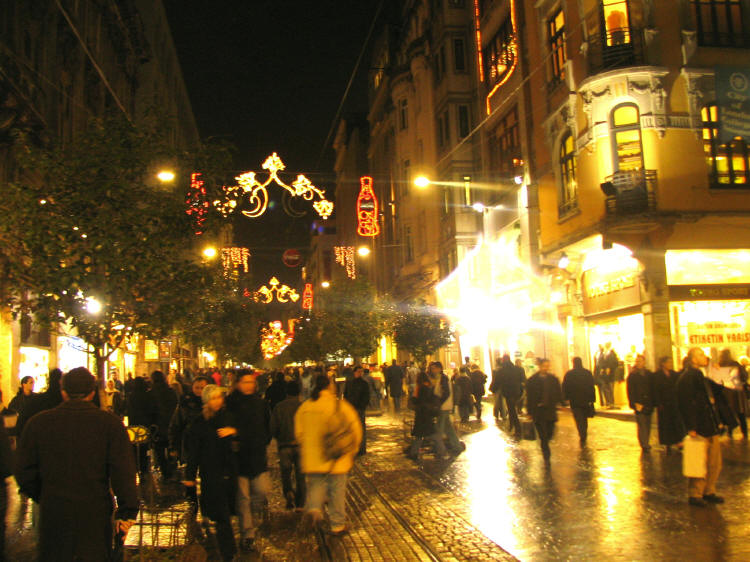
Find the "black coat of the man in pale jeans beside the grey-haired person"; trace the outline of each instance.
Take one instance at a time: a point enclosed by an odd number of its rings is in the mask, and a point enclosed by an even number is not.
[[[266,447],[271,441],[268,405],[257,392],[242,394],[239,390],[227,396],[226,404],[237,424],[239,474],[255,478],[268,470]]]

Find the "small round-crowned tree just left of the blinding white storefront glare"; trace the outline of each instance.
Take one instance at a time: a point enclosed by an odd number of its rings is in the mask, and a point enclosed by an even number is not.
[[[453,330],[440,312],[424,301],[409,303],[396,313],[392,323],[393,341],[411,353],[419,364],[428,355],[453,341]]]

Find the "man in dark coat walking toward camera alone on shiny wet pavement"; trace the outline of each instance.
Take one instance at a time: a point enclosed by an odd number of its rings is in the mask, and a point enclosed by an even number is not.
[[[557,405],[562,390],[557,377],[549,372],[549,359],[539,359],[539,370],[526,381],[526,409],[534,420],[545,464],[550,462],[549,442],[555,433]]]

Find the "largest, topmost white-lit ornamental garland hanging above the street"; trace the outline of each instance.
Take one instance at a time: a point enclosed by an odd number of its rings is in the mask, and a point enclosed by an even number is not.
[[[240,174],[234,178],[237,180],[236,186],[224,187],[225,201],[216,200],[214,206],[224,213],[224,216],[227,216],[237,207],[236,198],[241,189],[243,193],[248,194],[248,201],[251,206],[249,211],[242,211],[242,214],[250,218],[259,217],[268,208],[268,190],[266,188],[271,182],[275,182],[276,185],[283,187],[294,197],[302,197],[306,201],[312,201],[317,196],[319,200],[313,203],[313,207],[323,220],[330,217],[333,212],[333,203],[326,199],[325,191],[315,187],[309,179],[301,174],[292,182],[292,185],[284,183],[278,174],[285,167],[281,158],[274,152],[263,162],[263,169],[268,172],[268,178],[263,183],[258,181],[255,172]]]

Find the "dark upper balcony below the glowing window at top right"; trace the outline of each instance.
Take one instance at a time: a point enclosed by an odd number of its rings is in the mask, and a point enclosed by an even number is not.
[[[646,63],[643,29],[629,28],[590,35],[589,75]]]

